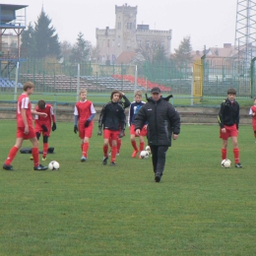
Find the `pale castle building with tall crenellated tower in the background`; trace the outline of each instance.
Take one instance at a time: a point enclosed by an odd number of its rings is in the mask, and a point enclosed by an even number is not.
[[[171,30],[150,30],[149,25],[137,25],[137,9],[127,4],[115,6],[115,29],[96,29],[98,63],[115,64],[121,54],[134,55],[140,48],[154,48],[158,44],[164,46],[166,55],[170,54]]]

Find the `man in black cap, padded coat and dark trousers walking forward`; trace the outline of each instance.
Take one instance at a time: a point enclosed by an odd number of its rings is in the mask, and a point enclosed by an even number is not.
[[[175,108],[162,98],[160,88],[153,88],[151,95],[135,117],[135,131],[140,135],[144,124],[148,122],[147,137],[152,152],[155,181],[160,182],[166,152],[171,146],[171,135],[176,140],[180,132],[180,117]]]

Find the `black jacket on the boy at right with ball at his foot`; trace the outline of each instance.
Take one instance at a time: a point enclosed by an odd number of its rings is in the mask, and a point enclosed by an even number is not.
[[[233,103],[226,98],[221,104],[221,109],[218,115],[218,121],[221,128],[224,128],[224,125],[231,126],[236,124],[236,128],[239,126],[239,111],[240,107],[237,101],[233,100]]]

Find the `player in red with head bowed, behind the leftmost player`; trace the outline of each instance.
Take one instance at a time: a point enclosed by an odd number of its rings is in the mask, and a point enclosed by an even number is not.
[[[42,142],[43,142],[42,160],[46,160],[46,156],[49,148],[48,138],[50,137],[50,131],[52,130],[54,132],[57,129],[55,115],[54,115],[52,105],[46,104],[43,99],[38,100],[38,103],[35,106],[35,111],[47,114],[46,117],[43,117],[37,114],[34,116],[35,135],[37,140],[39,141],[40,135],[42,134]],[[51,127],[51,121],[52,121],[52,127]]]

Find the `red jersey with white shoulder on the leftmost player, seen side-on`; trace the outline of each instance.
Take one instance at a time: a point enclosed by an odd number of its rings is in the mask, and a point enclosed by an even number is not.
[[[22,117],[23,108],[26,109],[28,125],[32,126],[32,103],[31,103],[30,97],[27,94],[22,94],[18,98],[17,111],[16,111],[18,127],[25,127],[23,117]]]

